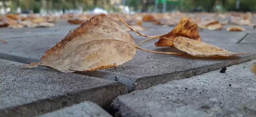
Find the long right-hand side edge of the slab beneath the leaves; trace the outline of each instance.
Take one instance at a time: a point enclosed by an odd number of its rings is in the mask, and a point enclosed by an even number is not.
[[[148,89],[158,84],[164,84],[172,80],[179,80],[179,79],[189,78],[193,76],[198,76],[204,73],[222,69],[223,67],[229,67],[232,65],[245,63],[255,58],[256,58],[256,54],[248,55],[235,60],[230,60],[229,62],[221,62],[221,63],[202,66],[194,69],[184,70],[179,73],[162,74],[162,75],[157,75],[152,77],[141,77],[136,80],[136,82],[134,83],[135,85],[133,85],[133,89],[134,90]]]

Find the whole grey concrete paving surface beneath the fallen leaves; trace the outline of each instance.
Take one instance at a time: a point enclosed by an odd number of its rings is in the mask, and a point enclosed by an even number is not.
[[[94,117],[107,112],[116,117],[256,116],[255,75],[250,71],[256,58],[256,30],[251,27],[245,26],[246,32],[199,32],[204,42],[232,52],[250,52],[228,59],[137,50],[131,61],[104,70],[64,74],[42,67],[20,68],[38,62],[76,26],[62,23],[53,28],[0,28],[0,38],[8,42],[0,43],[0,117]],[[173,29],[151,23],[143,26],[149,30],[140,32],[147,35]],[[130,33],[136,43],[147,39]],[[155,42],[157,39],[140,47],[180,52],[155,47]],[[227,67],[226,73],[219,72],[223,67]]]

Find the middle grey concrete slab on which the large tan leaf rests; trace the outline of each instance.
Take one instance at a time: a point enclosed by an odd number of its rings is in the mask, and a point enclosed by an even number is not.
[[[157,29],[158,31],[150,30],[150,33],[151,35],[163,34],[163,31],[168,32],[171,30],[171,28],[173,27],[165,27],[159,30]],[[175,56],[149,53],[138,50],[133,60],[125,63],[122,66],[80,74],[119,81],[126,84],[128,86],[128,90],[132,91],[138,89],[146,89],[160,83],[166,83],[170,80],[183,79],[195,75],[200,75],[220,69],[224,66],[227,67],[234,64],[243,63],[256,57],[255,53],[253,52],[256,48],[255,45],[235,44],[236,40],[238,41],[238,38],[240,38],[238,35],[241,35],[242,37],[246,33],[234,32],[232,34],[228,34],[222,33],[220,31],[211,31],[211,36],[214,36],[212,38],[209,36],[209,31],[202,31],[200,34],[202,35],[202,38],[204,38],[204,36],[208,37],[207,40],[210,44],[233,52],[251,51],[252,53],[243,55],[241,58],[229,60],[198,60],[182,56],[178,57],[177,55]],[[0,43],[0,57],[6,60],[22,62],[26,64],[30,64],[30,62],[38,62],[44,52],[56,42],[58,42],[59,39],[63,36],[65,36],[64,33],[63,35],[48,34],[43,37],[36,37],[34,35],[29,37],[22,37],[19,39],[7,39],[9,43]],[[227,39],[227,36],[231,38]],[[234,39],[235,37],[237,38]],[[135,36],[136,43],[144,39],[145,38],[142,36]],[[157,39],[149,41],[145,44],[142,44],[141,47],[155,51],[178,51],[170,47],[155,47],[154,42],[156,41]],[[21,58],[18,56],[21,56]]]

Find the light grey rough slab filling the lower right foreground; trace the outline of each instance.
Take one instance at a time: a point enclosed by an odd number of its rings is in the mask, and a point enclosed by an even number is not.
[[[118,96],[118,117],[255,117],[256,60]]]

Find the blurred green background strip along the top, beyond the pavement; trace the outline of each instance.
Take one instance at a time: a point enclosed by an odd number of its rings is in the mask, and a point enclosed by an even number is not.
[[[0,0],[0,13],[255,12],[256,0]]]

